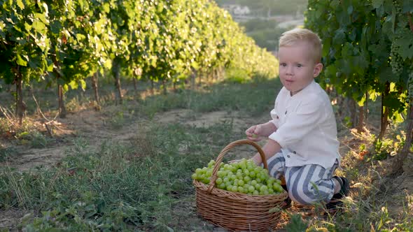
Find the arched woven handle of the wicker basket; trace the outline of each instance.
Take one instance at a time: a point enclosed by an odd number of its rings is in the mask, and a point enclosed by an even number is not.
[[[251,145],[251,146],[255,147],[258,150],[258,153],[260,153],[260,156],[261,156],[261,159],[262,159],[262,164],[264,164],[264,168],[268,169],[267,160],[265,160],[265,153],[262,150],[262,148],[260,147],[260,145],[255,143],[253,140],[249,140],[249,139],[236,140],[236,141],[226,145],[224,147],[224,149],[221,150],[220,154],[218,154],[218,158],[216,158],[215,165],[214,165],[214,170],[212,171],[211,179],[209,181],[209,187],[208,187],[208,190],[207,190],[209,194],[211,194],[212,189],[214,189],[214,187],[215,187],[215,181],[217,179],[216,174],[218,173],[219,164],[221,164],[221,161],[223,160],[224,154],[226,154],[229,150],[231,150],[232,147],[236,147],[236,146],[239,146],[239,145]]]

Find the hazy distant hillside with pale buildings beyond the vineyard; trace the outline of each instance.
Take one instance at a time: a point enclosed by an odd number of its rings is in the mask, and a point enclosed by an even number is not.
[[[218,6],[248,6],[251,15],[272,17],[278,15],[303,15],[307,0],[215,0]]]

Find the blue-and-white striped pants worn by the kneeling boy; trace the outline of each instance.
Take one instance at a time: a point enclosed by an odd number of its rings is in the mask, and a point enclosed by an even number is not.
[[[283,152],[276,153],[267,160],[269,174],[275,178],[284,175],[291,200],[302,205],[313,203],[328,203],[334,194],[335,182],[332,174],[338,166],[335,162],[332,168],[323,168],[318,164],[286,167]]]

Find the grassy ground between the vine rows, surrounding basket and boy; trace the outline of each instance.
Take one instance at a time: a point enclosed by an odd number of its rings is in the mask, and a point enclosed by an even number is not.
[[[90,92],[84,98],[70,96],[73,121],[61,120],[57,127],[73,133],[48,138],[43,130],[37,136],[48,140],[40,147],[64,153],[58,161],[19,168],[22,151],[41,144],[31,136],[35,116],[18,132],[28,131],[29,136],[2,138],[0,216],[13,212],[15,220],[0,223],[0,230],[213,231],[197,215],[190,175],[216,159],[225,145],[244,138],[249,125],[265,122],[280,87],[279,80],[261,79],[167,95],[146,96],[140,89],[145,97],[135,99],[130,91],[122,106],[104,95],[99,113],[90,109]],[[80,116],[86,124],[75,121]],[[1,123],[6,128],[6,120]],[[344,161],[338,172],[351,179],[344,210],[333,216],[293,207],[283,212],[279,230],[413,231],[412,173],[389,179],[385,174],[391,157],[374,159],[394,150],[396,139],[371,150],[373,133],[358,134],[342,124],[339,128]],[[397,134],[400,129],[394,127],[388,138]],[[371,153],[362,160],[363,146]],[[250,147],[240,147],[225,161],[248,154],[253,154]]]

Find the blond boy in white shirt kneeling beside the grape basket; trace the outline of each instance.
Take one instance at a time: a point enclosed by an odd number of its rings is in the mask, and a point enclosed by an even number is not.
[[[279,78],[283,88],[276,96],[272,120],[245,133],[254,141],[269,138],[262,147],[269,174],[284,175],[290,199],[303,205],[325,202],[333,211],[349,193],[349,181],[332,176],[340,160],[337,125],[328,95],[314,82],[323,69],[321,47],[318,35],[308,29],[282,34]],[[262,164],[260,154],[251,159]]]

